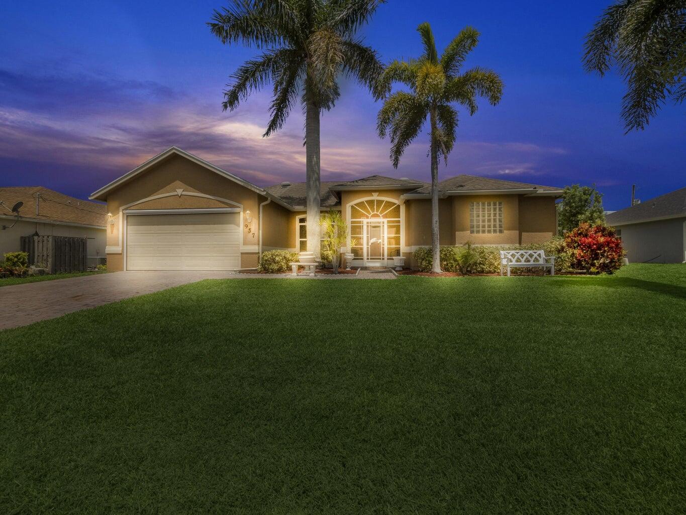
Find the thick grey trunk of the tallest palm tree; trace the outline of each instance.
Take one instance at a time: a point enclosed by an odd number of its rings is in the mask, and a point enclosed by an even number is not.
[[[319,107],[309,100],[305,113],[305,154],[307,181],[307,251],[314,252],[315,259],[322,254],[319,225],[320,211],[320,144]]]

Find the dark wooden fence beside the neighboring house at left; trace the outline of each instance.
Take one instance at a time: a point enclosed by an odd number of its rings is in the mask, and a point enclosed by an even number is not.
[[[85,272],[88,240],[69,236],[22,236],[21,251],[29,253],[29,265],[40,265],[49,273]]]

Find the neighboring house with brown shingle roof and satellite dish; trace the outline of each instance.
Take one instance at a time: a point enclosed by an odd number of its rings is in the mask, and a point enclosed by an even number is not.
[[[88,238],[89,264],[99,258],[104,264],[107,206],[63,195],[42,186],[0,187],[0,258],[7,252],[21,250],[21,236],[73,236]],[[10,212],[17,202],[19,221],[10,229],[16,216]]]

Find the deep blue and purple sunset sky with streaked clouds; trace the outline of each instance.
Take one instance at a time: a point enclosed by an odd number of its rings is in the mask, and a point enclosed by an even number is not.
[[[361,32],[382,60],[421,53],[428,21],[442,49],[465,25],[482,37],[466,67],[501,74],[504,98],[462,111],[440,177],[475,174],[564,186],[595,183],[606,209],[632,183],[648,199],[686,185],[686,106],[667,104],[624,135],[624,84],[581,66],[584,35],[610,0],[390,0]],[[86,198],[176,145],[259,185],[305,180],[303,117],[263,139],[270,88],[222,112],[229,74],[257,50],[227,47],[206,21],[221,1],[37,1],[0,6],[0,186],[44,185]],[[429,180],[428,137],[397,170],[375,133],[380,104],[344,83],[322,117],[322,180],[370,174]]]

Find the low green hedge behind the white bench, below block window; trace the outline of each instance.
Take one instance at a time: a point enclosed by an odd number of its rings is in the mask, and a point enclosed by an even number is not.
[[[461,273],[500,273],[500,251],[544,251],[547,256],[555,256],[555,269],[559,271],[571,270],[572,256],[565,249],[562,238],[554,238],[547,242],[526,245],[494,245],[440,248],[440,268],[444,272]],[[475,256],[473,255],[475,254]],[[430,272],[434,264],[430,247],[422,247],[414,251],[414,261],[419,270]],[[512,273],[530,273],[534,268],[515,268]]]

